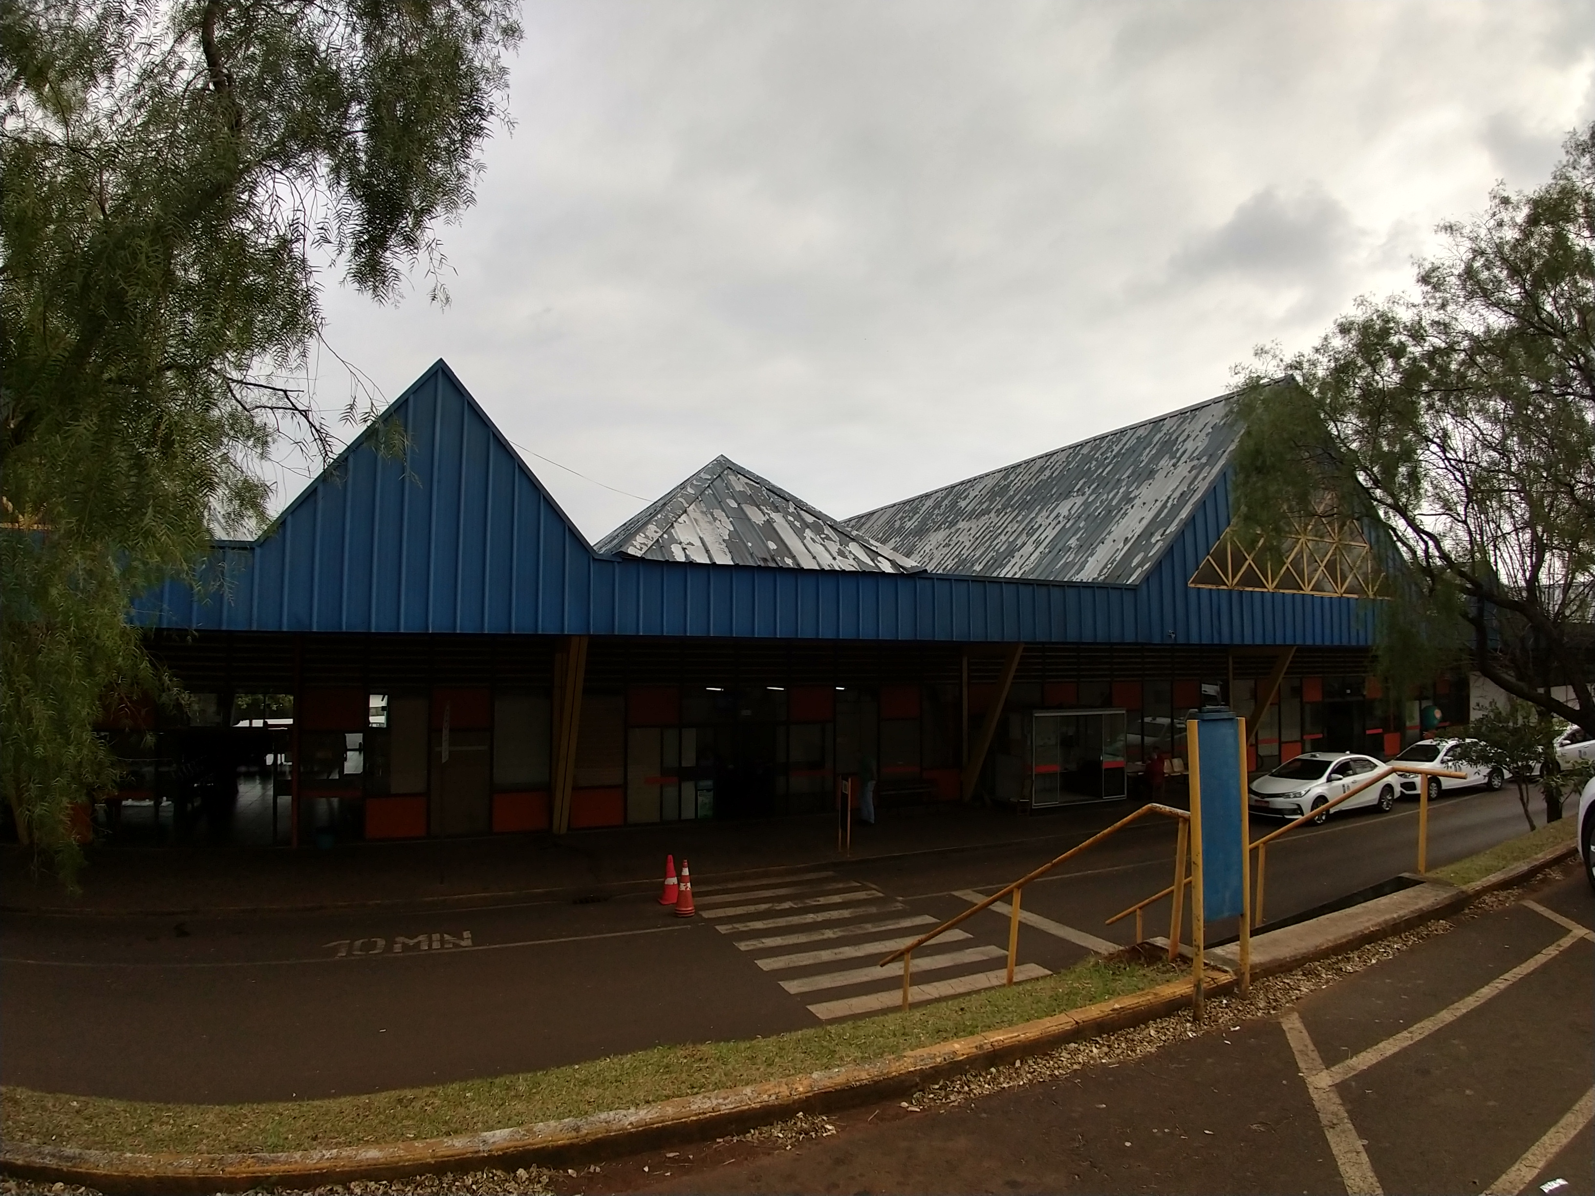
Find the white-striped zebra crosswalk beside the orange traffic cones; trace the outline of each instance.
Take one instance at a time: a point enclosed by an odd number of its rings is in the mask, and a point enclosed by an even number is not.
[[[702,885],[694,891],[699,917],[794,997],[815,1001],[809,1011],[820,1021],[852,1017],[896,1008],[903,1000],[903,965],[880,968],[864,960],[906,947],[939,919],[912,914],[879,888],[839,880],[834,872],[804,872],[726,885]],[[777,933],[769,933],[777,931]],[[949,930],[914,954],[909,1003],[994,989],[1008,979],[1006,950],[976,942],[963,928]],[[920,981],[920,974],[952,973]],[[1014,981],[1048,976],[1038,963],[1021,963]]]

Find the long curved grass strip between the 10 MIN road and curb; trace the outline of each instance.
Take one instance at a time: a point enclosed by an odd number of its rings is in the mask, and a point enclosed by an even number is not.
[[[219,1153],[324,1150],[530,1126],[636,1108],[844,1064],[887,1059],[1140,992],[1183,974],[1168,965],[1086,960],[1011,989],[987,989],[809,1030],[729,1043],[657,1046],[545,1072],[367,1096],[244,1105],[177,1105],[0,1088],[10,1142]]]

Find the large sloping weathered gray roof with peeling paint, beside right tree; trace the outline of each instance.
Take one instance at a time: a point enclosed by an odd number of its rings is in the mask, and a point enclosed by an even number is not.
[[[844,520],[933,572],[1137,585],[1230,459],[1233,395]]]

